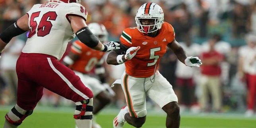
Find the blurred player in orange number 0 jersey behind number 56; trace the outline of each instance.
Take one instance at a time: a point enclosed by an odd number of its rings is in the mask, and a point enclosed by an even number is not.
[[[92,33],[102,42],[107,43],[108,32],[103,24],[90,23]],[[101,128],[95,121],[95,115],[106,105],[111,103],[114,91],[105,81],[105,68],[103,55],[105,52],[91,49],[80,40],[73,42],[71,50],[63,59],[63,64],[72,69],[81,81],[91,89],[94,95],[92,128]],[[94,70],[94,73],[92,71]],[[95,76],[96,75],[96,76]]]

